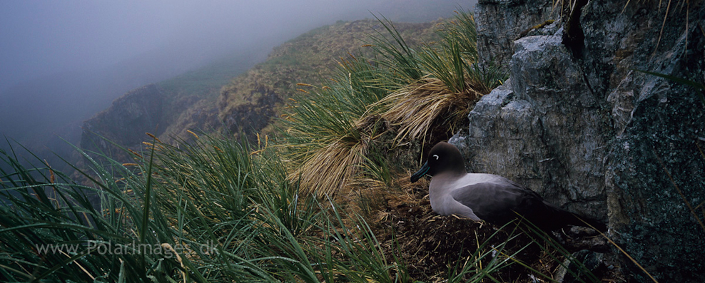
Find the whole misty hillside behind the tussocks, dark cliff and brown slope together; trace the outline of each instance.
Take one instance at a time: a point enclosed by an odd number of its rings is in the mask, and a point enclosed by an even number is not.
[[[417,46],[432,40],[436,24],[397,23],[395,28],[410,46]],[[320,84],[338,68],[341,59],[369,53],[363,45],[377,31],[384,31],[384,27],[376,19],[338,21],[275,47],[265,62],[235,78],[232,76],[242,72],[235,67],[238,62],[220,62],[136,88],[83,123],[81,148],[121,153],[95,134],[133,149],[148,139],[146,132],[166,143],[191,140],[188,130],[225,130],[253,138],[277,120],[283,102],[300,88],[297,83]]]

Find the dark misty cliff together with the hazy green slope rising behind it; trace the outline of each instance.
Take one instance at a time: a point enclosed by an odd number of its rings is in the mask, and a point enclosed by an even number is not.
[[[220,122],[215,101],[220,87],[253,66],[257,57],[227,58],[129,91],[83,122],[81,148],[119,159],[125,153],[111,142],[136,149],[148,140],[145,133],[171,143],[191,138],[188,129],[217,130]]]

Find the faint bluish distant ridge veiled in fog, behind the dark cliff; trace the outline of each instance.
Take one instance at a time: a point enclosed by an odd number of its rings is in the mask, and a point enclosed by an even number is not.
[[[108,68],[56,73],[18,83],[0,93],[0,135],[16,140],[49,164],[69,170],[61,158],[79,159],[72,144],[81,141],[83,121],[131,89],[161,81],[158,85],[173,98],[207,96],[208,92],[215,98],[220,86],[260,58],[263,53],[242,51],[184,73],[188,68],[164,63],[173,60],[171,56],[145,53]],[[9,150],[10,146],[16,145],[3,143],[0,148]]]

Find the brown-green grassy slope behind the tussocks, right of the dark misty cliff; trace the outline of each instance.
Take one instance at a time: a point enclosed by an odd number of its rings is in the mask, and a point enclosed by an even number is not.
[[[435,24],[400,23],[395,24],[395,27],[408,38],[411,46],[417,46],[422,41],[435,38]],[[218,116],[233,133],[257,133],[263,130],[264,126],[273,122],[273,117],[258,121],[253,119],[261,116],[243,116],[241,113],[266,108],[264,104],[275,101],[271,113],[274,113],[273,116],[280,115],[288,98],[301,88],[297,83],[319,84],[330,77],[333,69],[338,67],[340,58],[347,58],[348,54],[369,53],[369,48],[363,48],[362,45],[367,43],[370,35],[375,34],[375,29],[384,28],[376,20],[339,21],[309,31],[274,48],[267,61],[223,86],[218,100]],[[266,95],[274,97],[258,101]],[[260,127],[250,128],[252,125]]]

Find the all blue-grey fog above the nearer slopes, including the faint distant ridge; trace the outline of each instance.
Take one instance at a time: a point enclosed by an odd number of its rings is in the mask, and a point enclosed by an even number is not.
[[[234,54],[263,61],[338,20],[432,21],[474,2],[1,1],[0,135],[31,143],[76,133],[126,91]]]

